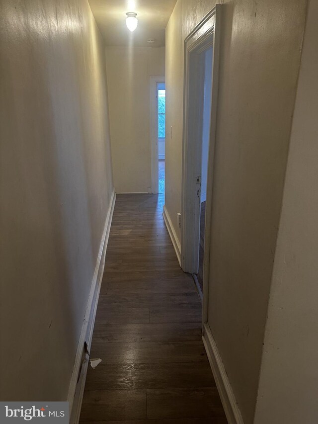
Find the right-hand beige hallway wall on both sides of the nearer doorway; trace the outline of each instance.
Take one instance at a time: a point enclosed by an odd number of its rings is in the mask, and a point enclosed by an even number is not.
[[[208,321],[252,423],[306,0],[225,1]],[[166,28],[166,208],[181,211],[184,38],[213,7],[178,0]],[[291,22],[293,24],[291,25]]]

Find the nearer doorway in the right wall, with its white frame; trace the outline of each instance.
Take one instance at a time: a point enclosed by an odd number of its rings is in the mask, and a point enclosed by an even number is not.
[[[217,10],[218,6],[185,40],[181,266],[193,275],[201,300],[207,294],[210,257],[219,52]]]

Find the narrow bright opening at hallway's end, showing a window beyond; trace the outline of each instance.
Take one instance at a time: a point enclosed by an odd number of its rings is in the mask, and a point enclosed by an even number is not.
[[[165,84],[157,84],[158,111],[158,193],[164,194],[165,165]]]

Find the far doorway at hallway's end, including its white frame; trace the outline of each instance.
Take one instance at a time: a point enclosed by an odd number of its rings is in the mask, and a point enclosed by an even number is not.
[[[151,77],[151,177],[152,193],[164,194],[165,183],[165,80]]]

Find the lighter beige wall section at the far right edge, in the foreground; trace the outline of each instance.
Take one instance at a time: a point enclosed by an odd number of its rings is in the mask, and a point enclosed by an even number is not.
[[[310,0],[255,423],[318,421],[318,3]]]

